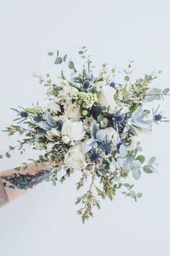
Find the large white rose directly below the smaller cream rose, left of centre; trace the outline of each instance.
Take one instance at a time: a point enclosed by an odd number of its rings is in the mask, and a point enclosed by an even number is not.
[[[82,140],[85,135],[83,122],[73,120],[66,121],[63,123],[61,135],[62,137],[67,136],[70,141]]]

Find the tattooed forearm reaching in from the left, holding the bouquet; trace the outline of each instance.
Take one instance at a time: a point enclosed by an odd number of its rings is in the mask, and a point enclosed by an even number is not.
[[[38,165],[30,163],[25,171],[10,169],[0,172],[0,208],[39,184],[53,169],[53,163]]]

